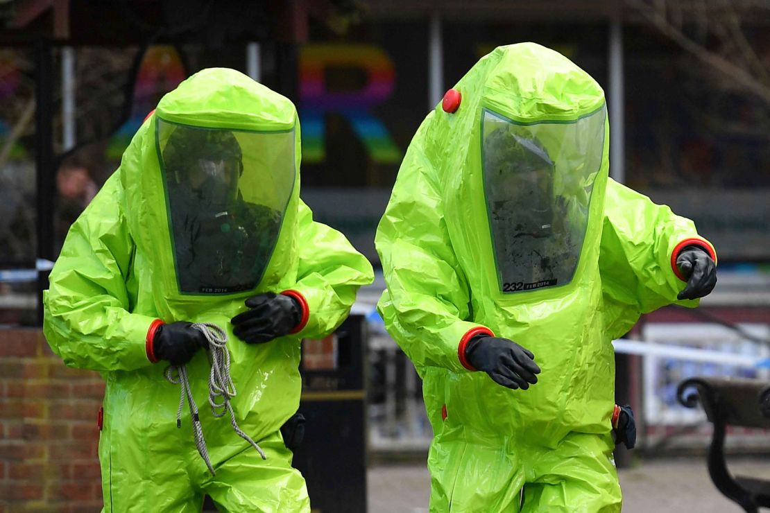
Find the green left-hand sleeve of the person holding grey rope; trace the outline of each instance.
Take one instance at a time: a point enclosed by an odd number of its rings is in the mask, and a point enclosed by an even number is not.
[[[43,331],[69,367],[95,371],[152,365],[146,336],[155,318],[130,311],[126,277],[134,245],[112,175],[69,230],[43,294]]]

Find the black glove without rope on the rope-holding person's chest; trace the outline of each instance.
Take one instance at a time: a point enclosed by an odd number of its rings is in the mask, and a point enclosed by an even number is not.
[[[248,311],[233,317],[233,333],[249,344],[283,337],[300,324],[302,306],[296,299],[275,292],[246,299]]]

